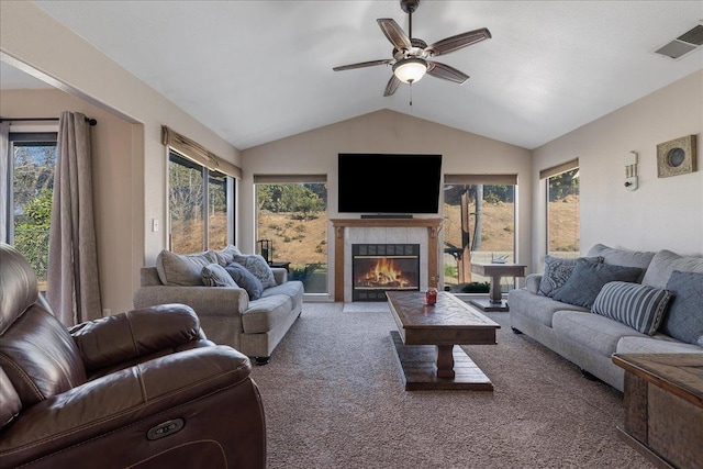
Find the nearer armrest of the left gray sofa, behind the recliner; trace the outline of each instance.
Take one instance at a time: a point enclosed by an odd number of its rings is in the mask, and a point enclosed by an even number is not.
[[[249,308],[249,295],[231,287],[142,287],[134,293],[134,308],[168,303],[187,304],[200,317],[233,316]]]

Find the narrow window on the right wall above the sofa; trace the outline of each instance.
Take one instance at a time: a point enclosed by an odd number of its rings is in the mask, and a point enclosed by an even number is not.
[[[540,172],[547,188],[547,254],[580,256],[579,161],[573,160]]]

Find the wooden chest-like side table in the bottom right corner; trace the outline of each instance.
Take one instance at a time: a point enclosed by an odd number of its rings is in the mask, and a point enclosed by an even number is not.
[[[703,354],[615,354],[625,369],[620,436],[660,468],[703,464]]]

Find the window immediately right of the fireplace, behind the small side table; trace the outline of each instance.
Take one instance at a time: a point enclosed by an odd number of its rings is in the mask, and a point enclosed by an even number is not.
[[[471,273],[471,263],[515,261],[515,187],[513,175],[445,175],[445,290],[488,292],[491,279]],[[514,288],[502,281],[503,291]]]

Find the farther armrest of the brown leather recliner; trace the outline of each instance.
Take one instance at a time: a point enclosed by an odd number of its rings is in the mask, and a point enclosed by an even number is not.
[[[185,304],[163,304],[77,324],[69,330],[87,371],[201,338],[200,321]]]

